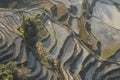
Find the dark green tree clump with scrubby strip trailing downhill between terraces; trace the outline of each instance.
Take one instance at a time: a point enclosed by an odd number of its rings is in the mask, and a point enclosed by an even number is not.
[[[32,48],[36,49],[42,65],[48,69],[57,71],[60,66],[58,59],[54,57],[50,58],[49,52],[44,48],[41,42],[41,39],[47,36],[47,31],[41,22],[41,15],[42,13],[31,17],[25,16],[21,27],[16,31],[16,33],[23,36],[23,38],[26,40],[28,50],[29,46],[32,46]]]

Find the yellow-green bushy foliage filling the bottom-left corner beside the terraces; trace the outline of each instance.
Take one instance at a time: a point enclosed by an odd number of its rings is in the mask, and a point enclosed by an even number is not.
[[[0,65],[0,80],[27,80],[29,69],[18,67],[16,62]]]

